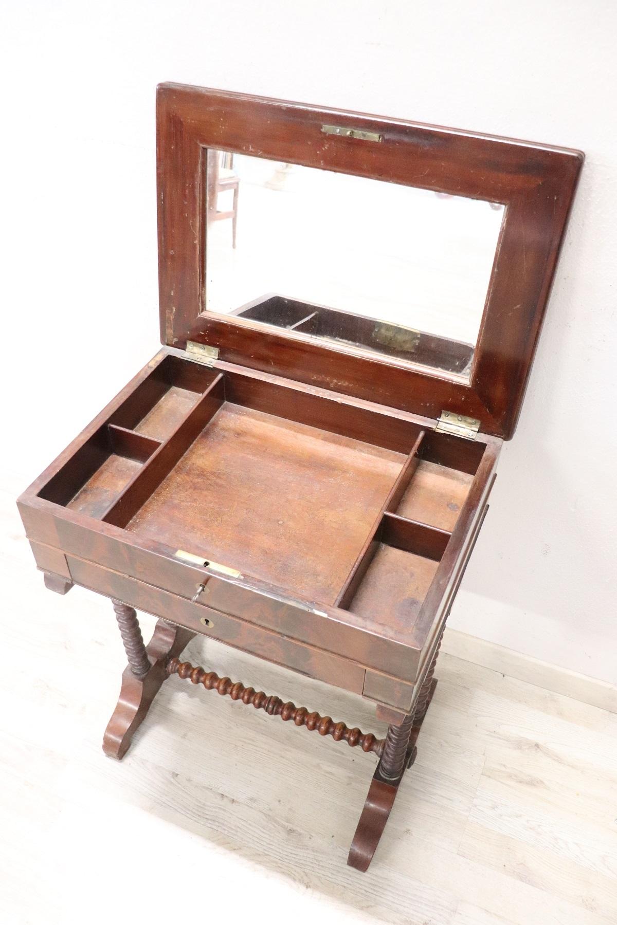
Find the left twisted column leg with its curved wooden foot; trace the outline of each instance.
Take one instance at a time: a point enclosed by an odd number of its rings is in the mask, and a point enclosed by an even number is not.
[[[167,660],[179,656],[195,634],[159,620],[146,648],[133,608],[117,600],[113,605],[129,664],[122,674],[117,707],[105,729],[103,750],[110,758],[121,759],[167,678]]]

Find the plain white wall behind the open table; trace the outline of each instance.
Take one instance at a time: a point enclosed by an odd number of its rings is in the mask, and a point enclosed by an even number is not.
[[[614,4],[21,0],[8,18],[2,432],[23,487],[157,349],[158,81],[586,152],[523,416],[451,625],[617,680]]]

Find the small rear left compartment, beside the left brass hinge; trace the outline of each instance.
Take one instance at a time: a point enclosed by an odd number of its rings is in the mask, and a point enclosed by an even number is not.
[[[215,378],[212,369],[167,356],[110,421],[144,437],[166,440]]]

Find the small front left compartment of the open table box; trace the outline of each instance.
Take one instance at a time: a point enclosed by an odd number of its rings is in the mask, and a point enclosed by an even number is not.
[[[103,518],[160,445],[124,427],[99,427],[47,483],[40,497]]]

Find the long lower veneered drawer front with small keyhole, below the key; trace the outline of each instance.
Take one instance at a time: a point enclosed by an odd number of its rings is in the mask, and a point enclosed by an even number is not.
[[[356,662],[341,659],[320,648],[305,646],[227,613],[215,611],[200,603],[192,603],[161,588],[146,585],[135,578],[94,565],[93,562],[73,556],[68,556],[67,561],[71,579],[77,585],[89,587],[108,598],[117,598],[155,617],[178,623],[194,633],[213,636],[219,642],[241,648],[294,672],[342,687],[355,694],[363,692],[364,667]],[[205,625],[203,619],[209,625]]]

